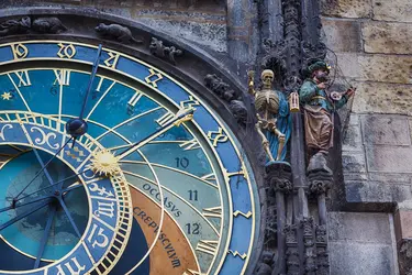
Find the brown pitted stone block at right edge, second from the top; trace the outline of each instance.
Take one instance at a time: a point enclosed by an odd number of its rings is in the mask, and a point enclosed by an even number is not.
[[[412,54],[412,28],[405,23],[365,22],[361,24],[365,52]]]

